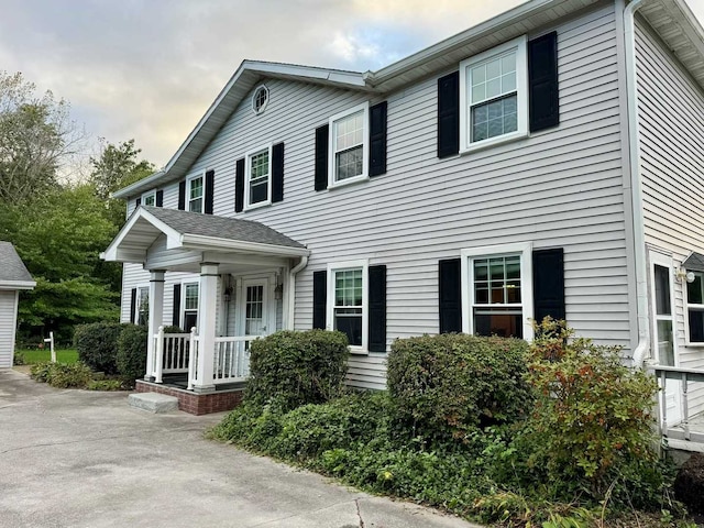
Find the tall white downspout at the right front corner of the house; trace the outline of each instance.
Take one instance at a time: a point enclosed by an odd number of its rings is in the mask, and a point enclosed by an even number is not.
[[[638,127],[638,86],[636,76],[635,14],[644,0],[632,0],[624,10],[626,52],[626,89],[628,99],[628,150],[630,160],[630,193],[636,260],[636,314],[638,344],[634,350],[634,366],[642,367],[650,355],[650,315],[648,302],[648,268],[646,266],[646,229],[642,213],[642,178],[640,174],[640,129]]]

